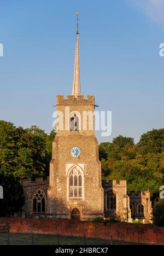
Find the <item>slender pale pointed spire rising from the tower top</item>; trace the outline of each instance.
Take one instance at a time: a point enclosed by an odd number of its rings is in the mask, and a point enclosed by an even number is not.
[[[80,68],[79,68],[79,24],[78,24],[78,15],[77,12],[77,40],[76,40],[76,49],[75,49],[75,61],[74,61],[74,74],[73,74],[73,86],[72,86],[72,95],[80,95]]]

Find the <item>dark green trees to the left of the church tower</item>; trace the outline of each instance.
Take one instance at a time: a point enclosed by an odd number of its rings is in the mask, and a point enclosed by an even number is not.
[[[23,129],[0,121],[0,184],[4,188],[0,216],[21,210],[22,179],[48,175],[55,135],[54,130],[47,135],[37,126]]]

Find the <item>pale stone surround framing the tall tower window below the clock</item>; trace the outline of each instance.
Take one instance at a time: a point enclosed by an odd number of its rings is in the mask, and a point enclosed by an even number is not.
[[[80,186],[82,188],[82,196],[81,197],[70,197],[69,196],[69,177],[75,167],[78,167],[79,171],[81,172],[81,178],[82,178],[82,181],[81,181],[82,184]],[[84,174],[83,168],[81,168],[78,164],[74,164],[73,166],[71,166],[71,168],[69,168],[69,170],[67,172],[67,198],[68,198],[68,201],[72,201],[72,200],[84,201],[84,182],[85,182],[85,174]]]

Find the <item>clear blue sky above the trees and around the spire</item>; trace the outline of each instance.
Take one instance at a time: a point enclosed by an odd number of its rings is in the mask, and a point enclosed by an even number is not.
[[[98,141],[137,142],[164,126],[163,0],[0,0],[0,8],[0,119],[51,131],[56,95],[71,94],[78,10],[81,91],[113,113],[112,136]]]

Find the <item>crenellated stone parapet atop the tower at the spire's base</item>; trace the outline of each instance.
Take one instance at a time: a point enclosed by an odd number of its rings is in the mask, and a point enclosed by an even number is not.
[[[93,95],[87,95],[86,99],[84,95],[68,95],[67,98],[64,95],[57,95],[57,105],[94,105],[95,97]]]

